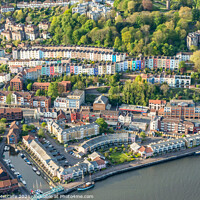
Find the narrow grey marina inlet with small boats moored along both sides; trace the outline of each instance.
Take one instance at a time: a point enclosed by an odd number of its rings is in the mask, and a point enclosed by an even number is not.
[[[26,186],[29,191],[36,190],[38,188],[44,192],[50,190],[47,182],[41,176],[38,176],[32,170],[32,166],[26,164],[19,154],[17,155],[15,152],[10,151],[5,152],[4,155],[5,159],[10,159],[15,170],[22,175],[22,178],[26,181]]]

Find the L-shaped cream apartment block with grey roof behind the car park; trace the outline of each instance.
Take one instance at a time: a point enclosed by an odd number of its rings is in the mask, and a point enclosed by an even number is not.
[[[60,143],[66,143],[70,140],[79,140],[85,137],[91,137],[93,135],[99,134],[99,125],[96,123],[76,126],[68,129],[54,121],[49,121],[47,125],[48,131],[54,134]]]

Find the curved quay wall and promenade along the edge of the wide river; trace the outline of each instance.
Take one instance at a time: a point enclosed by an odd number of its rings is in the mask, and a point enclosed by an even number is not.
[[[110,168],[107,168],[106,170],[103,170],[103,171],[93,174],[92,180],[94,180],[95,182],[98,182],[98,181],[105,180],[105,179],[107,179],[111,176],[117,175],[117,174],[145,168],[148,166],[158,165],[158,164],[161,164],[164,162],[181,159],[181,158],[188,157],[188,156],[193,156],[193,155],[195,155],[195,152],[199,151],[199,150],[200,150],[200,147],[195,147],[195,148],[186,149],[186,150],[183,150],[180,152],[170,153],[163,157],[149,158],[149,159],[141,160],[139,162],[134,161],[134,162],[130,162],[127,164],[110,167]],[[79,187],[82,184],[83,184],[82,182],[73,182],[73,183],[67,184],[67,187],[66,187],[66,185],[63,185],[65,187],[65,191],[63,191],[60,194],[61,195],[69,194],[71,192],[74,192],[77,190],[77,187]]]

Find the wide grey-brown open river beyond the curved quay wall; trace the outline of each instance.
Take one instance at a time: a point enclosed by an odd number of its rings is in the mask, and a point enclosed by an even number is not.
[[[70,195],[92,195],[95,200],[200,200],[200,156],[116,175]]]

